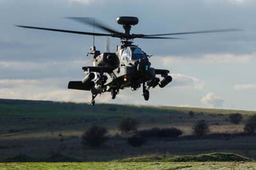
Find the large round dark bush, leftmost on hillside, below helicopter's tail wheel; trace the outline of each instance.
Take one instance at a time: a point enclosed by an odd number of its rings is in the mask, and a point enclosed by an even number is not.
[[[108,130],[105,127],[93,125],[82,136],[82,144],[99,147],[108,139]]]

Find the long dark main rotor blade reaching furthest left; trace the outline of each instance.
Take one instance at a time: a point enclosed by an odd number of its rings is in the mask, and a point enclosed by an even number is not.
[[[69,30],[63,30],[63,29],[52,29],[52,28],[45,28],[45,27],[31,27],[31,26],[18,26],[17,27],[24,27],[29,29],[41,29],[46,31],[57,31],[57,32],[63,32],[63,33],[72,33],[77,35],[95,35],[95,36],[111,36],[110,34],[101,34],[101,33],[89,33],[89,32],[81,32],[81,31],[69,31]]]

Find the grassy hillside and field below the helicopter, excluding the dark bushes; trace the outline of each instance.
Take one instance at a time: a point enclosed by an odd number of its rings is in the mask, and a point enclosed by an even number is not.
[[[195,112],[189,116],[188,112]],[[230,123],[228,114],[239,112],[243,120],[238,125]],[[113,105],[61,103],[49,101],[4,100],[0,99],[0,169],[244,169],[255,166],[254,162],[113,162],[147,155],[198,155],[205,153],[236,153],[256,159],[256,137],[233,135],[243,132],[244,123],[255,111],[233,111],[222,109],[200,109],[189,107],[148,107],[145,105]],[[118,122],[124,117],[136,118],[139,130],[152,127],[176,127],[184,133],[177,139],[148,139],[140,148],[127,144],[127,135],[117,130]],[[195,137],[193,125],[198,120],[209,124],[210,133]],[[102,125],[109,130],[110,139],[100,148],[81,144],[81,135],[92,125]],[[230,135],[229,135],[230,134]],[[33,160],[51,162],[51,156],[61,155],[88,163],[22,163],[17,155]],[[13,158],[13,159],[12,159]],[[50,158],[50,159],[49,159]],[[25,161],[26,162],[26,161]]]

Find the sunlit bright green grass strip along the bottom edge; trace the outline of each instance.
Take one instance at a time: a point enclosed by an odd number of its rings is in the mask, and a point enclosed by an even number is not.
[[[65,162],[0,163],[0,169],[255,169],[255,162]]]

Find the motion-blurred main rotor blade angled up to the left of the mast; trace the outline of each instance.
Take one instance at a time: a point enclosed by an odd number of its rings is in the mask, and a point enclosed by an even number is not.
[[[120,33],[118,31],[116,31],[115,29],[112,29],[109,26],[104,26],[104,24],[101,24],[100,21],[97,21],[93,18],[89,18],[89,17],[67,17],[67,19],[72,19],[72,20],[76,20],[78,22],[82,22],[83,24],[87,24],[90,26],[95,26],[98,27],[104,31],[108,31],[109,33]]]

